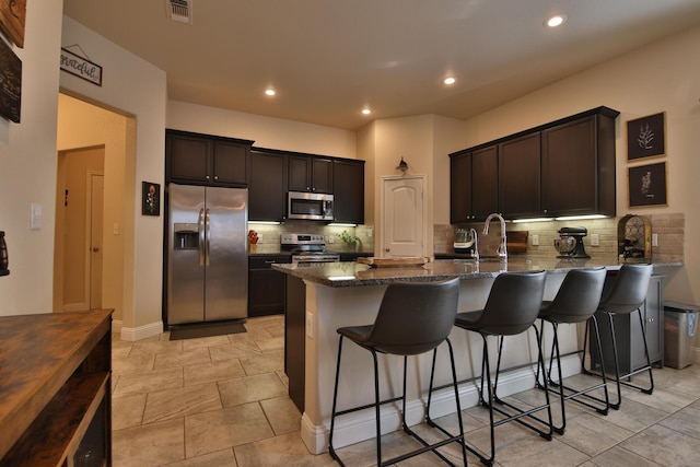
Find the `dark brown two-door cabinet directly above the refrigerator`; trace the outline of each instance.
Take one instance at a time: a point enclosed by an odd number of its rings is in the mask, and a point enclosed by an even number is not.
[[[166,130],[166,182],[247,186],[253,141]]]

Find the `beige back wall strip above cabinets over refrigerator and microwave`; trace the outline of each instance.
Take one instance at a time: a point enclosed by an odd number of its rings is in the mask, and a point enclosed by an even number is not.
[[[178,101],[167,103],[167,128],[253,140],[258,148],[357,159],[354,131]]]

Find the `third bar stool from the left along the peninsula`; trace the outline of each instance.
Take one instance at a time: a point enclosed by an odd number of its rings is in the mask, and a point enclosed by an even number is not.
[[[581,353],[581,367],[583,371],[585,370],[584,361],[588,327],[592,325],[595,335],[595,349],[598,352],[600,362],[603,362],[600,332],[598,329],[598,320],[595,317],[595,312],[598,310],[598,304],[600,303],[600,294],[603,293],[603,285],[605,284],[605,268],[570,270],[569,272],[567,272],[567,276],[561,283],[561,287],[559,288],[555,300],[542,302],[542,306],[539,312],[539,318],[541,319],[540,339],[544,339],[545,322],[550,323],[553,329],[549,367],[547,374],[542,376],[547,378],[547,386],[549,390],[557,393],[560,397],[562,422],[560,427],[553,427],[553,430],[560,434],[563,434],[567,428],[567,413],[564,410],[565,400],[573,400],[575,402],[595,409],[598,413],[602,415],[607,415],[610,407],[607,381],[605,377],[605,366],[602,366],[600,382],[598,384],[586,387],[584,389],[574,389],[563,384],[563,377],[561,375],[561,353],[559,351],[558,334],[560,324],[586,324],[583,349],[575,350],[573,352]],[[558,381],[553,381],[551,376],[555,358],[557,359]],[[537,382],[539,386],[539,371],[537,375]],[[540,387],[544,388],[544,386]],[[598,389],[603,389],[603,398],[588,394]],[[598,404],[592,404],[592,401],[596,401]]]

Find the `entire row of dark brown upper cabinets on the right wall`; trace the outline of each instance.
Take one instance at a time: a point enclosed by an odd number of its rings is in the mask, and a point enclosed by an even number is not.
[[[505,219],[615,217],[618,115],[597,107],[450,154],[451,222],[482,220],[489,212]],[[495,166],[498,176],[490,175],[492,168],[477,172],[475,154],[481,153],[489,154],[482,162]],[[489,188],[498,192],[490,206]],[[479,212],[477,206],[492,209]]]

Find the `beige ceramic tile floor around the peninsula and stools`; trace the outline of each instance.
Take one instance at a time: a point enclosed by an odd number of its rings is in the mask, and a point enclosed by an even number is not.
[[[301,415],[287,396],[281,316],[252,318],[247,332],[170,341],[164,332],[113,345],[113,465],[128,466],[330,466],[300,437]],[[576,380],[585,376],[574,376]],[[697,466],[700,465],[700,364],[654,370],[653,395],[625,390],[622,408],[603,417],[567,405],[567,432],[546,441],[516,423],[497,428],[497,465]],[[537,389],[513,396],[535,404]],[[467,441],[488,446],[488,412],[464,411]],[[559,406],[555,418],[559,419]],[[455,425],[456,418],[440,422]],[[430,439],[435,430],[420,425]],[[406,448],[402,433],[383,437],[385,456]],[[373,466],[374,442],[338,450],[348,466]],[[453,444],[445,455],[459,455]],[[470,465],[479,465],[469,456]],[[440,465],[424,454],[401,466]]]

